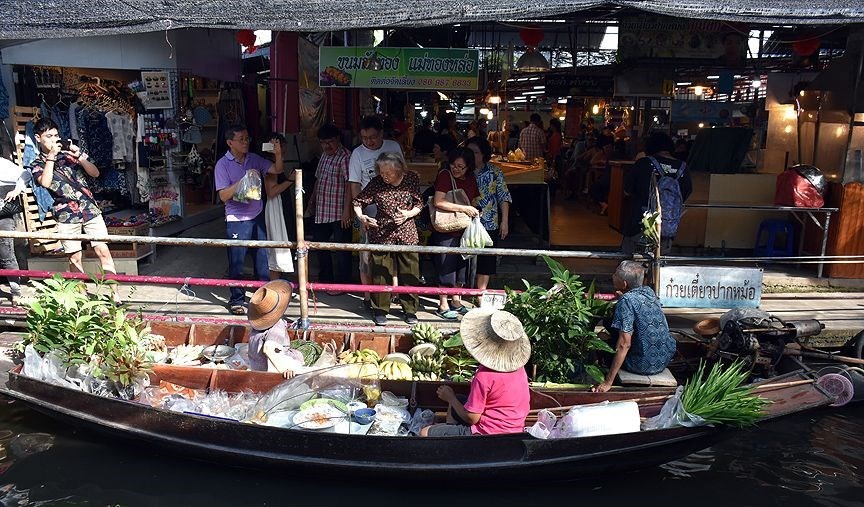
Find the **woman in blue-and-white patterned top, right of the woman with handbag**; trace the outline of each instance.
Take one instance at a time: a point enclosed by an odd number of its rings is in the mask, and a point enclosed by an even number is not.
[[[500,239],[504,239],[510,233],[510,203],[513,202],[510,191],[507,190],[507,182],[504,181],[504,173],[501,168],[489,162],[492,158],[489,141],[482,137],[472,137],[465,142],[465,147],[474,152],[477,188],[480,190],[480,199],[477,202],[480,221],[493,239],[496,232]],[[497,258],[494,255],[477,256],[478,289],[485,290],[489,285],[489,277],[496,273],[496,264]]]

